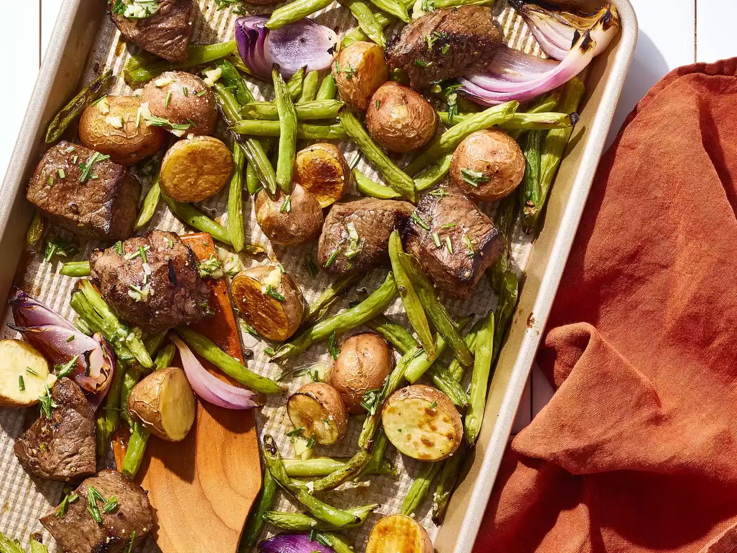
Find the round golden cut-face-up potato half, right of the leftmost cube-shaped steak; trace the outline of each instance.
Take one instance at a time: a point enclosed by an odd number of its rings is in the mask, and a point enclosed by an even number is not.
[[[161,160],[161,189],[177,201],[203,201],[217,194],[233,173],[233,154],[214,136],[179,140]]]

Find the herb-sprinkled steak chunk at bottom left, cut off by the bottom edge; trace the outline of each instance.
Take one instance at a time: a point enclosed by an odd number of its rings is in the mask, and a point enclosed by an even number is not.
[[[88,512],[88,489],[94,487],[107,501],[115,496],[117,502],[109,512],[103,512],[105,501],[97,498],[102,523],[98,524]],[[133,550],[146,538],[153,527],[153,509],[146,491],[115,470],[101,470],[74,490],[77,499],[68,501],[66,515],[57,515],[54,507],[40,520],[43,526],[66,553],[121,553],[128,548],[131,535]]]

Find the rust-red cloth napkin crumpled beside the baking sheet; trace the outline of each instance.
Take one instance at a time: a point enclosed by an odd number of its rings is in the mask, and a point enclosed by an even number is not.
[[[602,159],[475,553],[737,543],[736,74],[671,72]]]

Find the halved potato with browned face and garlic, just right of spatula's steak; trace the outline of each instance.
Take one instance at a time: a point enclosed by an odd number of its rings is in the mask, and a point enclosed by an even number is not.
[[[267,340],[293,335],[304,315],[304,298],[292,277],[277,265],[258,265],[237,274],[231,282],[237,310]]]

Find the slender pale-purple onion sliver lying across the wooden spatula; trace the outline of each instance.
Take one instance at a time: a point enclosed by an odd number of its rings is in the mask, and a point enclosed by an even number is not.
[[[223,382],[220,378],[211,375],[205,367],[202,366],[200,360],[195,357],[192,350],[181,341],[178,335],[170,334],[169,339],[179,349],[179,356],[182,359],[182,369],[189,385],[203,400],[213,405],[225,407],[226,409],[251,409],[259,407],[254,397],[256,392],[238,388],[231,384]]]

